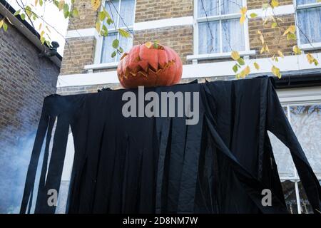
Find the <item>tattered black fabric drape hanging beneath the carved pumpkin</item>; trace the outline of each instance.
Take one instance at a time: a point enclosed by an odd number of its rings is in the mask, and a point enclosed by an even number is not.
[[[200,93],[196,125],[185,125],[185,117],[125,118],[126,91],[45,98],[21,213],[30,212],[43,144],[35,212],[55,212],[47,191],[60,187],[69,126],[75,155],[68,213],[287,213],[267,130],[289,147],[310,204],[320,212],[320,184],[270,78],[146,89]],[[261,203],[264,189],[272,192],[272,206]]]

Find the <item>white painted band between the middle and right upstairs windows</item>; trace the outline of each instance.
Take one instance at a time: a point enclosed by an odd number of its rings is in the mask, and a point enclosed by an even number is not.
[[[258,17],[266,17],[266,16],[272,16],[273,12],[275,16],[282,16],[282,15],[287,15],[287,14],[294,14],[295,13],[295,8],[293,4],[290,5],[285,5],[285,6],[277,6],[273,9],[269,7],[267,9],[250,9],[246,12],[246,15],[250,17],[250,14],[255,13],[258,14]]]

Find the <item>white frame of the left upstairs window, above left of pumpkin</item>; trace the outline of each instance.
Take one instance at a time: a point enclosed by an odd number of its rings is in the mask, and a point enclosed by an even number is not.
[[[103,10],[103,6],[106,5],[106,1],[110,1],[110,0],[103,0],[102,1],[102,6],[101,6],[101,10]],[[118,6],[118,12],[121,13],[120,9],[121,9],[121,1],[122,0],[119,0],[119,6]],[[134,3],[134,14],[133,14],[133,24],[131,26],[123,26],[123,27],[117,27],[116,28],[123,28],[124,30],[129,30],[130,31],[133,31],[133,26],[134,26],[134,23],[135,23],[135,16],[136,16],[136,0],[133,0],[135,1]],[[116,25],[119,24],[119,20],[120,20],[120,16],[117,15],[117,21],[116,21]],[[113,28],[110,28],[108,29],[108,35],[111,34],[111,33],[118,33],[118,31],[116,31],[116,29],[113,27]],[[119,40],[120,38],[120,34],[118,33],[117,34],[117,38]],[[99,66],[101,66],[101,68],[115,68],[116,66],[118,66],[118,61],[117,61],[117,58],[115,58],[115,61],[113,62],[108,62],[108,63],[101,63],[101,54],[102,54],[102,51],[103,51],[103,36],[100,36],[98,34],[98,39],[96,40],[96,48],[95,48],[95,56],[94,56],[94,61],[93,63],[96,65],[96,64],[99,64]],[[90,67],[92,68],[92,66]],[[89,67],[88,67],[89,69]],[[86,67],[85,67],[85,70],[86,70]],[[90,69],[89,69],[90,70]]]

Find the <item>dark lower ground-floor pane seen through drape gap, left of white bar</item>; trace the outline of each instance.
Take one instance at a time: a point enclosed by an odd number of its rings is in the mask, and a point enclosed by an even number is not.
[[[295,182],[286,180],[282,182],[282,190],[287,204],[287,209],[291,214],[297,214],[297,198],[295,195]]]

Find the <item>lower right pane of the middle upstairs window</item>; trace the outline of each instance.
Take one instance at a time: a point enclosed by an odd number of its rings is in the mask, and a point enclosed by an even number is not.
[[[239,19],[222,21],[223,52],[244,51],[244,31]]]

